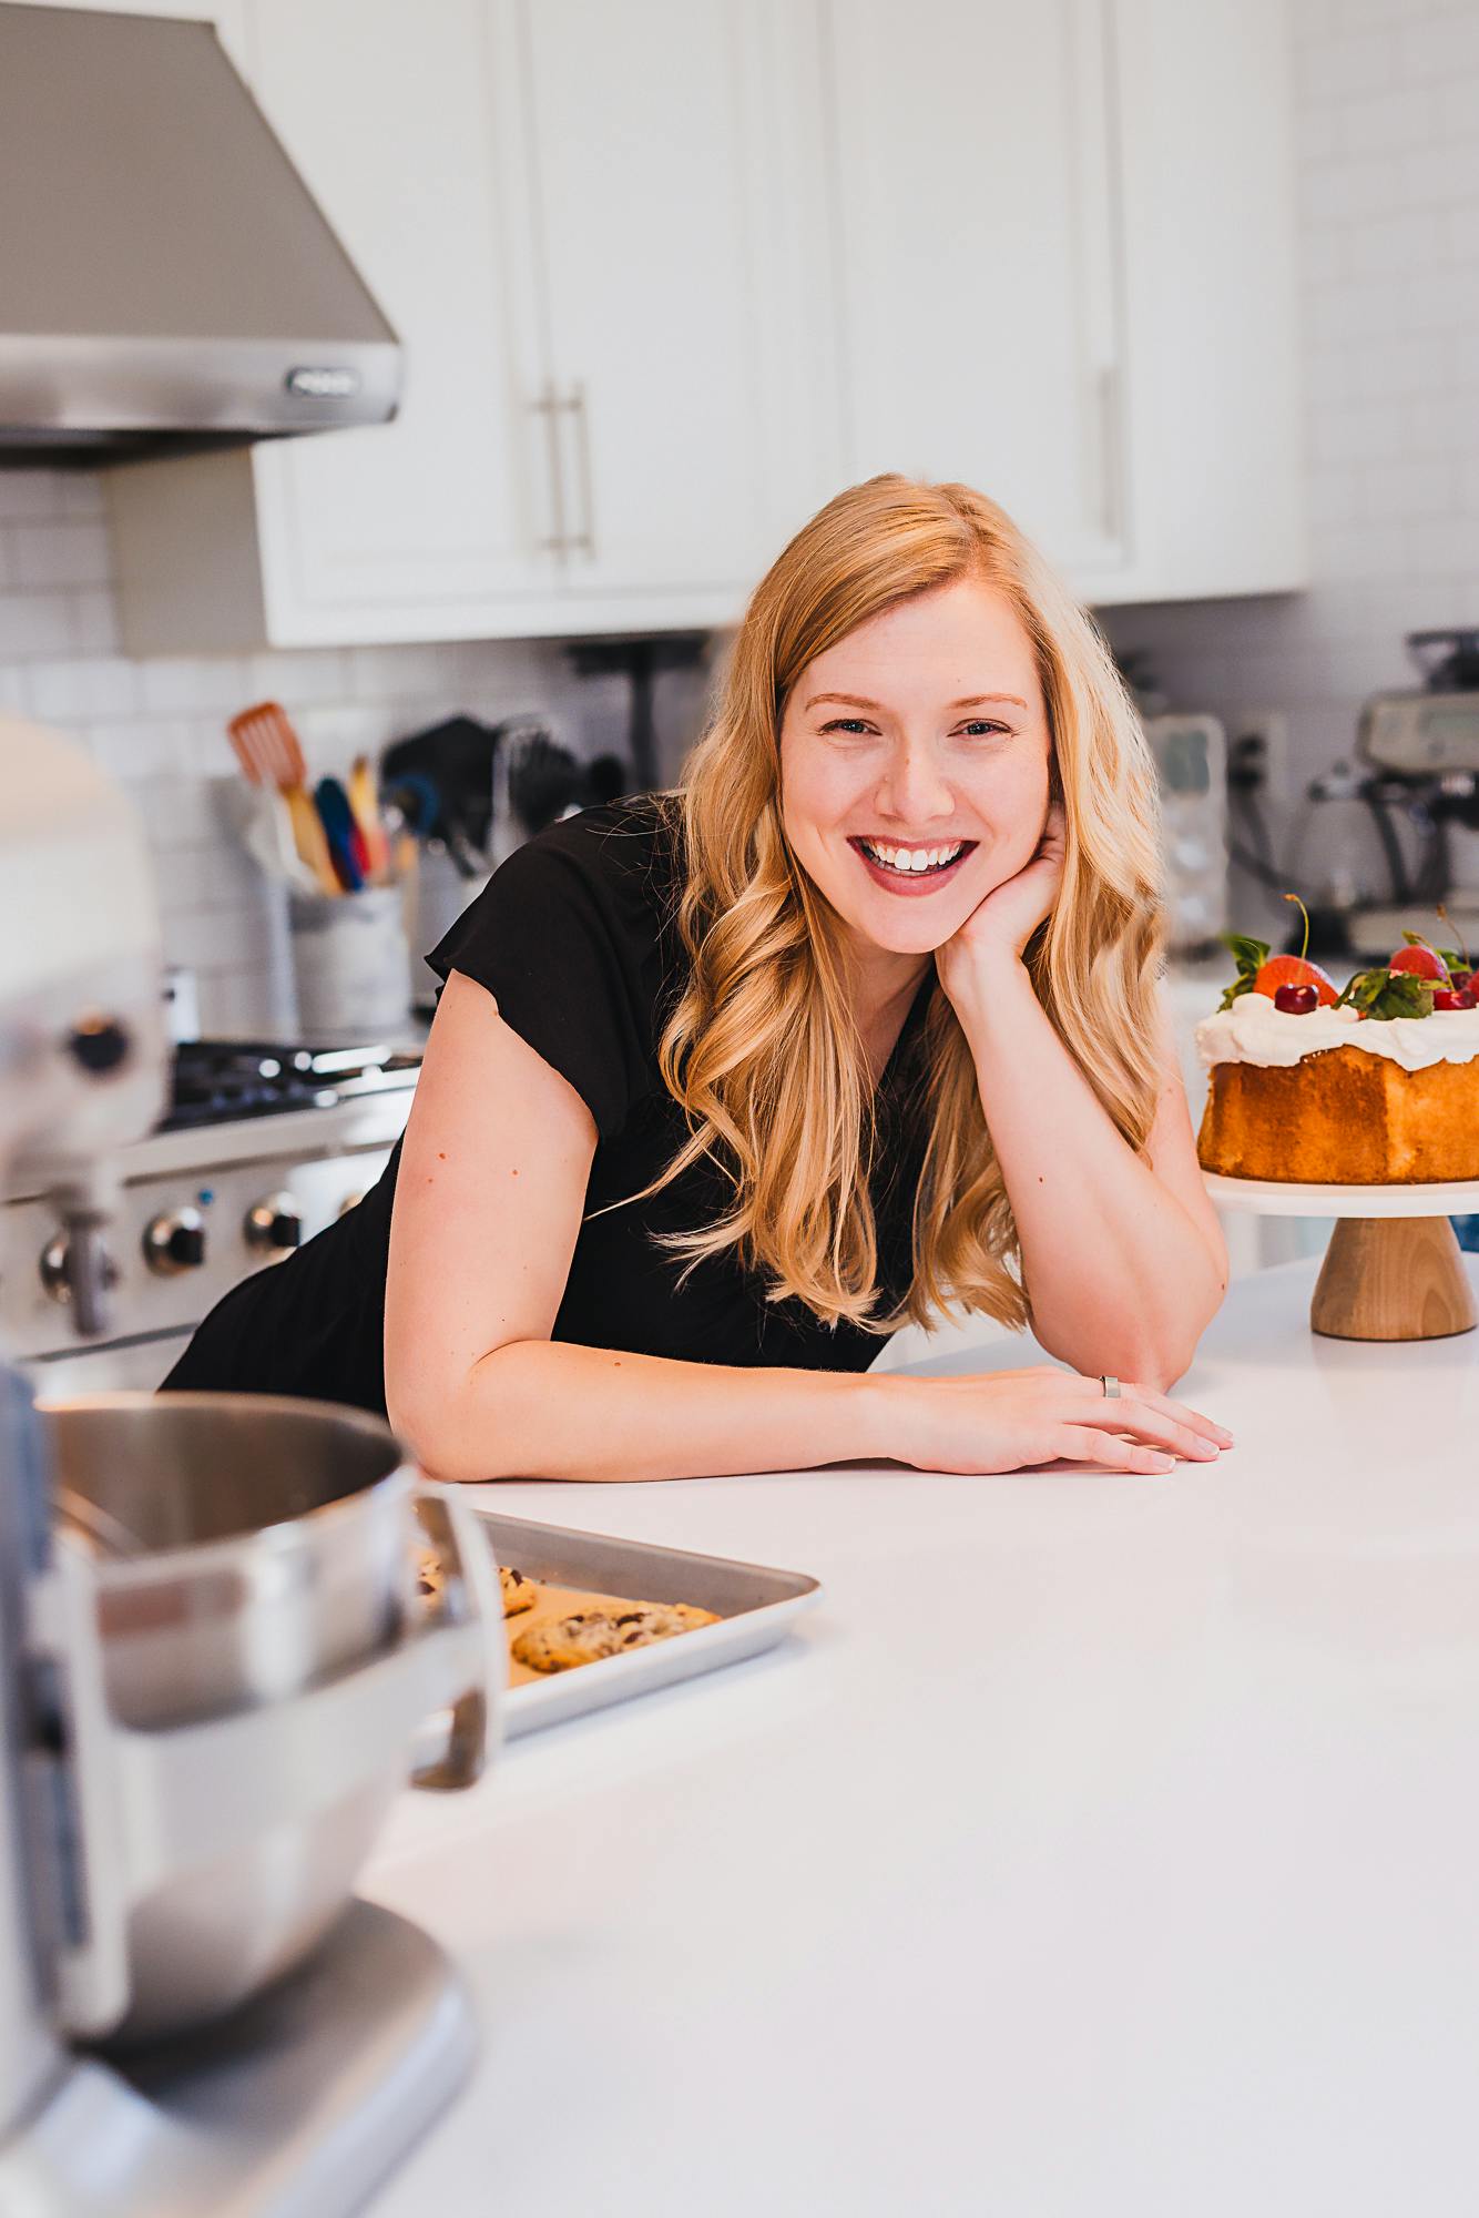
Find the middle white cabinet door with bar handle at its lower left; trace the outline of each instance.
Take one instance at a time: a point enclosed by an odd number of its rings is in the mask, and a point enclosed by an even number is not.
[[[743,586],[794,488],[767,444],[756,0],[519,0],[570,590]],[[809,11],[796,11],[807,16]]]

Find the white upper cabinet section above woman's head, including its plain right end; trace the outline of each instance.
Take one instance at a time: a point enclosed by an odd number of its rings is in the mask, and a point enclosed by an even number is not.
[[[1284,0],[827,16],[847,475],[978,486],[1089,601],[1302,583]]]

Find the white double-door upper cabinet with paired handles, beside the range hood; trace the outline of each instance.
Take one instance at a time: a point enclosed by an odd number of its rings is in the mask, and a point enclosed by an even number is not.
[[[732,621],[840,472],[816,11],[239,7],[406,397],[113,472],[126,645]]]

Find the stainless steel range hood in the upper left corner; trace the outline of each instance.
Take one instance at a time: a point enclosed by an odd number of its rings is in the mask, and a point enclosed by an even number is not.
[[[211,24],[0,4],[0,461],[384,424],[397,393]]]

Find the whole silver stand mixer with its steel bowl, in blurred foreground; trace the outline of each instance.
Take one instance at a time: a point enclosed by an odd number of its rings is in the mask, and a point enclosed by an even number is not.
[[[0,1176],[49,1184],[93,1331],[109,1153],[166,1074],[146,847],[60,736],[0,716]],[[401,1785],[477,1777],[501,1681],[492,1559],[386,1426],[211,1395],[38,1411],[0,1364],[7,2218],[364,2207],[475,2029],[441,1950],[353,1874]]]

